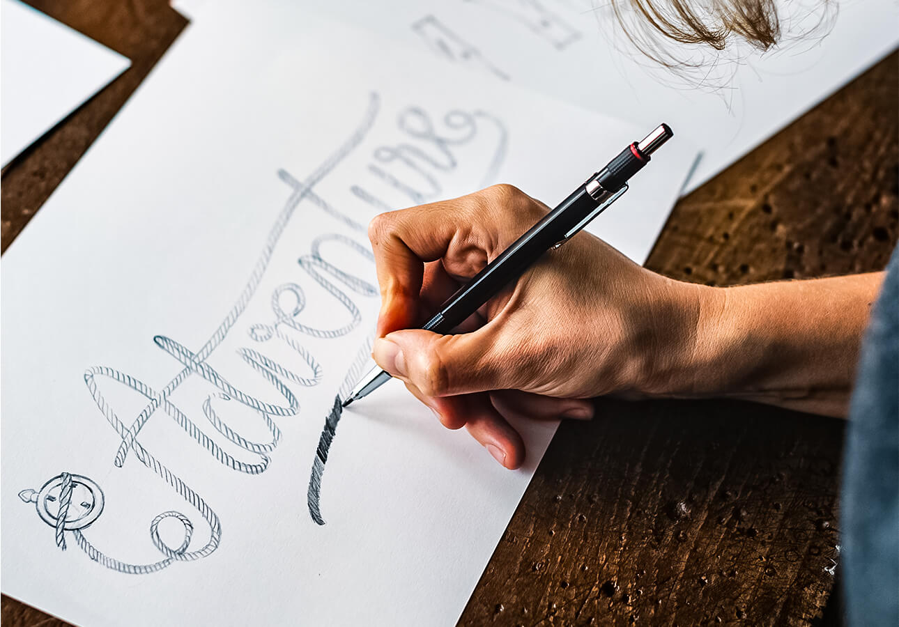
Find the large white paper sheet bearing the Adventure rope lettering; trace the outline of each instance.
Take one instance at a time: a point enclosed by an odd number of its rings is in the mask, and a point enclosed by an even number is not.
[[[643,128],[289,4],[188,34],[4,255],[3,591],[85,625],[454,623],[556,425],[509,472],[388,384],[316,492],[378,306],[369,200],[552,203]],[[678,146],[593,227],[636,261]]]

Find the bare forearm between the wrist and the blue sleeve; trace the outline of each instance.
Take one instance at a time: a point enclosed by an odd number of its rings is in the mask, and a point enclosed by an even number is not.
[[[671,396],[729,396],[845,416],[871,305],[884,273],[691,287]],[[664,382],[664,383],[663,383]]]

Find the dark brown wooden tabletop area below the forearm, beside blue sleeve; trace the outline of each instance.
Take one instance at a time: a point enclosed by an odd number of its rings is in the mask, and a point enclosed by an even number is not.
[[[841,422],[602,400],[566,423],[462,623],[808,624],[832,584]]]

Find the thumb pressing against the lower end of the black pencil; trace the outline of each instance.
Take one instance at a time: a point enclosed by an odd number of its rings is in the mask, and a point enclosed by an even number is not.
[[[493,336],[439,335],[410,329],[375,340],[372,357],[388,373],[412,384],[425,396],[455,396],[513,387],[512,367],[494,349]]]

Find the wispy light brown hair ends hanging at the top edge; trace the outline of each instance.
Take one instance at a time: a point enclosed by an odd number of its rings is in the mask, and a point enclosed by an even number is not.
[[[826,34],[834,0],[609,0],[630,43],[656,65],[701,84],[726,83],[747,51]],[[820,37],[813,38],[813,42]],[[672,45],[673,43],[680,45]],[[724,62],[724,63],[722,63]],[[725,73],[724,75],[722,73]]]

